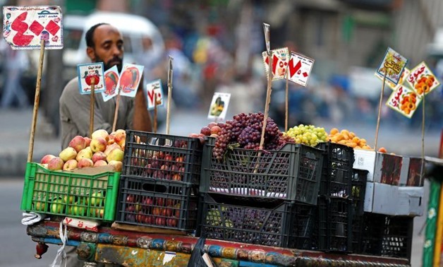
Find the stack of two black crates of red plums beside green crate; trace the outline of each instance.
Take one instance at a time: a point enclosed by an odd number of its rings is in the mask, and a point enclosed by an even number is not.
[[[116,222],[194,231],[201,161],[199,138],[127,131]]]

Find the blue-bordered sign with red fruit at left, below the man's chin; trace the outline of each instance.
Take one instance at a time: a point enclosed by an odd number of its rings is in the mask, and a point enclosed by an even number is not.
[[[103,62],[78,64],[78,90],[80,94],[88,95],[91,93],[92,81],[94,81],[94,93],[101,93],[105,90],[103,81]]]

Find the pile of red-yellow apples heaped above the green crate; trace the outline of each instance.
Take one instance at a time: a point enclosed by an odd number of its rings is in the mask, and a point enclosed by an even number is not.
[[[48,170],[71,171],[77,168],[113,165],[116,172],[123,167],[126,131],[119,129],[108,133],[94,131],[91,138],[75,136],[59,155],[44,155],[40,164]]]

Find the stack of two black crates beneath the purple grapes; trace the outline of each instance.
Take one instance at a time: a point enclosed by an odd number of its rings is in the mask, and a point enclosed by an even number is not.
[[[295,143],[280,150],[203,149],[200,235],[232,242],[311,249],[322,151]]]

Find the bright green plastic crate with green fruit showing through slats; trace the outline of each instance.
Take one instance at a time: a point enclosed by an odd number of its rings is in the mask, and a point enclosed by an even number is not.
[[[116,213],[119,182],[120,172],[51,171],[28,162],[20,209],[111,222]]]

